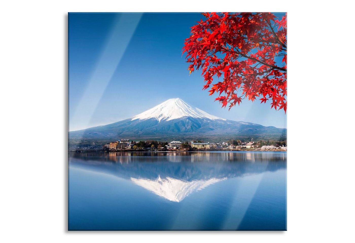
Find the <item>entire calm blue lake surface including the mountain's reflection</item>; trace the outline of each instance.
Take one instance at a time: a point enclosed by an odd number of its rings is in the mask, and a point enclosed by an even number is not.
[[[286,152],[73,153],[69,230],[286,230]]]

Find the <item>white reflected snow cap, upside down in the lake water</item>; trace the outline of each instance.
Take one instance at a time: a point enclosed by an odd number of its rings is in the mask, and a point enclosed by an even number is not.
[[[225,179],[226,178],[211,178],[209,180],[181,181],[171,177],[162,179],[160,176],[157,178],[157,180],[136,179],[131,177],[131,181],[133,181],[138,186],[146,188],[158,196],[164,197],[173,202],[180,202],[191,192],[200,191],[211,184],[223,181]]]

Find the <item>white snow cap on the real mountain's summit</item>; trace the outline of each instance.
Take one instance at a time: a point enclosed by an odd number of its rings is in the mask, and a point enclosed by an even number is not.
[[[215,115],[208,114],[197,107],[192,107],[180,98],[173,98],[149,109],[141,114],[132,117],[131,120],[145,120],[155,118],[159,122],[162,120],[173,120],[181,117],[207,118],[211,120],[226,120]]]

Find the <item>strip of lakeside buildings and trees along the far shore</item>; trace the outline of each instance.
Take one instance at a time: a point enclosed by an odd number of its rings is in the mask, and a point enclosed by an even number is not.
[[[286,141],[241,141],[228,140],[226,142],[170,141],[159,142],[154,140],[134,141],[120,139],[106,143],[102,149],[94,149],[92,146],[72,147],[70,151],[287,151]]]

